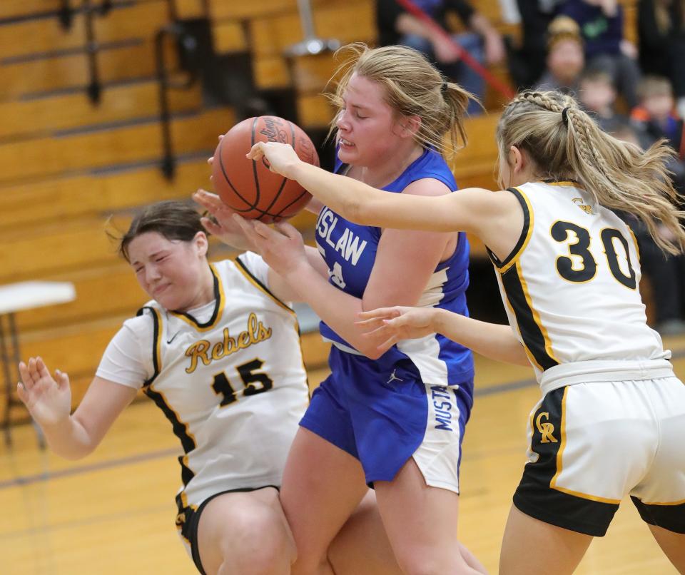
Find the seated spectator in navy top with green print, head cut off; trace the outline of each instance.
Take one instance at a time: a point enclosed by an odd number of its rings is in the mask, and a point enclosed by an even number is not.
[[[559,14],[577,22],[587,65],[609,72],[629,108],[636,106],[635,86],[641,76],[637,49],[623,37],[623,7],[618,0],[566,0]]]

